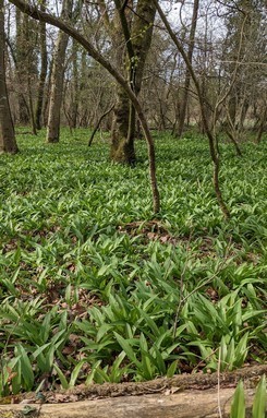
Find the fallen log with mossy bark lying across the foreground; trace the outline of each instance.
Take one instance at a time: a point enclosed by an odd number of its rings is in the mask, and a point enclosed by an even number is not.
[[[0,405],[0,418],[227,418],[240,379],[246,389],[246,417],[251,417],[255,387],[266,372],[264,365],[219,375],[197,373],[143,383],[81,385],[46,393],[45,404],[38,404],[33,393],[25,394],[20,404]]]

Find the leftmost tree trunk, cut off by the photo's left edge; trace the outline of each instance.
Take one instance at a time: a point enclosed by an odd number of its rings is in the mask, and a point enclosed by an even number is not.
[[[3,0],[0,0],[0,154],[16,153],[17,151],[5,83],[4,5]]]

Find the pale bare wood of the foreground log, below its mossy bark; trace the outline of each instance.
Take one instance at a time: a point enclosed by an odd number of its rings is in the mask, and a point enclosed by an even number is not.
[[[143,396],[120,396],[71,404],[0,406],[1,418],[218,418],[229,417],[234,387],[184,391]],[[246,417],[251,416],[255,390],[246,391]]]

